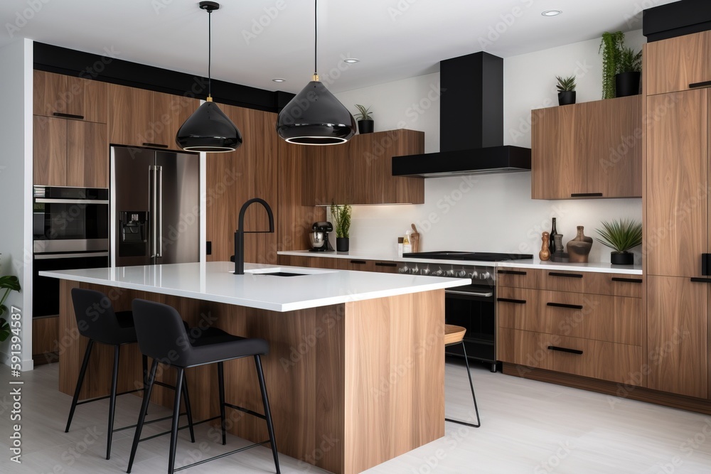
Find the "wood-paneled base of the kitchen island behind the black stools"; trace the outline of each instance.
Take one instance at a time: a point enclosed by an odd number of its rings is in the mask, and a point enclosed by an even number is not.
[[[262,363],[280,453],[355,474],[444,436],[443,289],[281,313],[63,279],[59,389],[70,395],[87,343],[78,335],[73,287],[105,292],[116,311],[144,298],[175,307],[194,331],[215,326],[267,340]],[[95,348],[82,399],[109,393],[112,357],[111,348]],[[159,379],[174,383],[173,370],[161,367]],[[142,387],[138,345],[122,348],[119,370],[119,392]],[[215,365],[186,374],[193,417],[218,416]],[[263,412],[251,357],[225,362],[225,382],[227,402]],[[162,387],[151,397],[169,407],[172,399]],[[262,420],[227,413],[231,433],[268,439]]]

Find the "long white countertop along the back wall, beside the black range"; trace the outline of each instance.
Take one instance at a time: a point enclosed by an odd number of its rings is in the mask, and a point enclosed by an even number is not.
[[[473,260],[442,260],[442,259],[413,259],[402,258],[396,255],[374,254],[371,252],[310,252],[309,250],[292,250],[277,252],[279,255],[294,255],[296,257],[322,257],[331,259],[356,259],[356,260],[387,260],[390,262],[418,262],[424,264],[453,264],[469,266],[494,266],[497,268],[518,268],[560,270],[560,271],[597,271],[601,273],[614,273],[622,275],[641,275],[642,266],[613,265],[609,262],[591,262],[587,264],[541,262],[538,259],[510,260],[508,262],[479,262]]]

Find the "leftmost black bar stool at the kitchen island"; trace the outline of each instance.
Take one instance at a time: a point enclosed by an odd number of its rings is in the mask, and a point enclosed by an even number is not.
[[[124,395],[134,392],[145,392],[147,388],[147,378],[148,378],[148,357],[144,355],[143,358],[143,373],[144,373],[144,387],[141,389],[129,390],[128,392],[122,392],[117,394],[117,384],[119,375],[119,352],[120,348],[124,344],[136,343],[136,328],[134,327],[133,313],[132,311],[118,311],[114,312],[114,307],[111,304],[111,300],[104,293],[100,291],[73,288],[72,289],[72,301],[74,303],[74,313],[77,318],[77,327],[79,328],[79,333],[87,338],[89,338],[89,343],[87,344],[87,349],[84,352],[84,361],[82,362],[82,368],[79,372],[79,379],[77,380],[77,387],[74,391],[74,398],[72,400],[72,408],[69,411],[69,419],[67,420],[67,427],[65,433],[69,432],[69,427],[72,424],[72,419],[74,418],[74,411],[77,405],[96,402],[97,400],[109,399],[109,426],[107,429],[107,440],[106,440],[106,458],[109,459],[111,456],[111,440],[113,433],[116,431],[122,431],[124,429],[130,429],[135,427],[124,426],[123,428],[114,429],[114,412],[116,408],[116,397],[118,395]],[[97,397],[93,399],[82,400],[79,402],[79,393],[82,389],[82,384],[84,383],[84,377],[87,372],[87,367],[89,365],[89,358],[91,356],[92,348],[94,348],[95,343],[113,345],[114,346],[114,372],[112,375],[111,382],[111,394],[106,397]],[[164,387],[175,389],[175,387],[160,383]],[[190,409],[190,397],[188,397],[187,384],[183,379],[184,384],[184,402],[186,407],[186,414],[188,416],[188,427],[190,428],[190,435],[193,443],[195,442],[195,434],[193,432],[193,415]],[[177,393],[180,391],[176,390]],[[146,394],[144,393],[144,397]],[[161,421],[165,419],[172,418],[171,416],[166,416],[161,419],[151,420],[149,423],[154,423],[156,421]],[[166,431],[166,433],[168,433]]]

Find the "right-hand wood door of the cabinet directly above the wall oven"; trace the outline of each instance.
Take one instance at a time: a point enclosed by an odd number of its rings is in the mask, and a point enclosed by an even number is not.
[[[109,187],[106,124],[67,120],[67,185]]]

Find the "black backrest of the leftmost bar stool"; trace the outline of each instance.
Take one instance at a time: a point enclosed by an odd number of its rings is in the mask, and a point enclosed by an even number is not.
[[[126,328],[121,328],[111,300],[101,291],[72,289],[74,313],[79,333],[104,344],[126,343]]]

